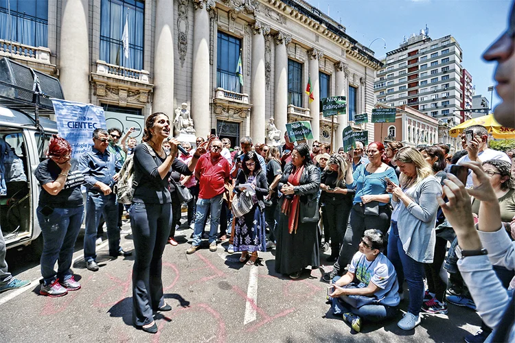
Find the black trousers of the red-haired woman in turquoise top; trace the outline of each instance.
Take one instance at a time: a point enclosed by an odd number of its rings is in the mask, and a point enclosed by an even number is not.
[[[379,206],[379,215],[365,215],[361,204],[352,206],[352,210],[350,211],[350,224],[345,231],[345,237],[341,245],[338,260],[334,263],[334,269],[339,275],[343,272],[347,264],[350,263],[356,251],[358,251],[358,246],[365,230],[376,228],[382,232],[385,242],[388,241],[387,231],[390,227],[390,219],[391,208],[389,204]],[[387,253],[386,248],[383,253]]]

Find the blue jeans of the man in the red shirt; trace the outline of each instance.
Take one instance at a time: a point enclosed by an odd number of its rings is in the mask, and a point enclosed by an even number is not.
[[[204,230],[204,222],[206,220],[207,211],[211,211],[211,229],[209,230],[209,244],[216,241],[216,233],[218,233],[218,223],[220,222],[220,210],[222,209],[222,194],[211,198],[196,201],[195,230],[193,232],[193,245],[200,246],[202,240],[202,232]]]

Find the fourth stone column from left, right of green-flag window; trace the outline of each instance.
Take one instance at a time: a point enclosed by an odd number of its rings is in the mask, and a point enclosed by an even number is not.
[[[251,137],[254,143],[264,143],[265,136],[265,86],[264,75],[264,35],[270,27],[256,21],[252,37],[252,84],[251,84]]]

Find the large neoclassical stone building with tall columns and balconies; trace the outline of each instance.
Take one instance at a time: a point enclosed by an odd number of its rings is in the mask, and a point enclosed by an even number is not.
[[[56,76],[66,99],[115,115],[173,117],[186,103],[197,135],[216,128],[233,142],[250,135],[262,143],[273,117],[282,132],[308,120],[315,139],[329,142],[319,99],[345,95],[347,115],[334,123],[339,146],[354,115],[375,104],[382,64],[374,51],[303,0],[7,3],[0,1],[0,56]],[[365,129],[374,137],[373,124]]]

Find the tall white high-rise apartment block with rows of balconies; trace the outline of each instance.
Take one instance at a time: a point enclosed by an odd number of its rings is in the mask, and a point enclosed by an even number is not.
[[[457,125],[462,120],[461,56],[453,36],[433,40],[428,29],[413,34],[382,61],[385,67],[374,83],[377,102],[409,105],[449,126]]]

